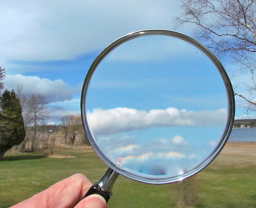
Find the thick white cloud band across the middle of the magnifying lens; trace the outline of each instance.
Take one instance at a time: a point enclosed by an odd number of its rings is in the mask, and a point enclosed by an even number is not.
[[[186,111],[176,108],[149,112],[129,108],[94,109],[88,121],[94,135],[111,135],[154,126],[216,126],[226,122],[226,109]]]

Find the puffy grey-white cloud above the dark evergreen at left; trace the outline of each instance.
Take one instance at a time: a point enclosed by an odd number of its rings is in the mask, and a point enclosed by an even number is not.
[[[5,89],[14,91],[22,86],[22,94],[39,93],[46,97],[46,102],[63,101],[72,98],[74,89],[62,80],[49,80],[38,76],[24,76],[22,74],[6,75]]]

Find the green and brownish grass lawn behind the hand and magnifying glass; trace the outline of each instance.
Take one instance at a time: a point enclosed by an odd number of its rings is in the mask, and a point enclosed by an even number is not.
[[[45,157],[44,153],[6,154],[0,162],[0,208],[27,199],[75,173],[86,175],[94,183],[108,169],[92,149],[59,149],[55,154],[56,158]],[[109,205],[256,207],[255,176],[256,144],[227,143],[207,168],[179,183],[148,185],[119,176]]]

